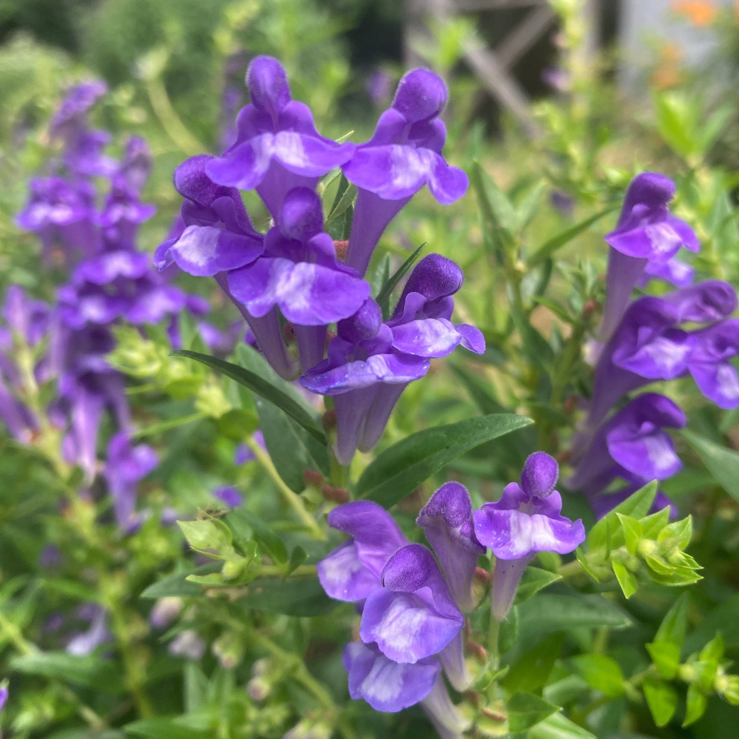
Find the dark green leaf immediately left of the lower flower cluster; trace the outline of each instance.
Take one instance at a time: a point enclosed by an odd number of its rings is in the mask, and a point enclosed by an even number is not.
[[[233,604],[240,613],[266,610],[287,616],[321,616],[338,602],[330,599],[316,577],[265,578],[254,580],[248,593]]]

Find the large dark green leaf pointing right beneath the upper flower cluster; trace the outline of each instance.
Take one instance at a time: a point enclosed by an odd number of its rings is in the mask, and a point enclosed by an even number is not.
[[[530,418],[500,413],[416,432],[369,463],[358,480],[357,497],[389,508],[461,454],[529,424]]]

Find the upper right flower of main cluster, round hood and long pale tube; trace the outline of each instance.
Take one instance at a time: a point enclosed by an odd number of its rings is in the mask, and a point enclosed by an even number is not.
[[[423,185],[442,205],[467,191],[467,175],[441,156],[446,127],[439,115],[446,98],[446,85],[434,72],[408,72],[372,138],[343,167],[359,189],[347,264],[361,274],[386,226]]]

